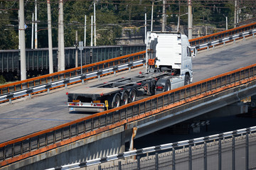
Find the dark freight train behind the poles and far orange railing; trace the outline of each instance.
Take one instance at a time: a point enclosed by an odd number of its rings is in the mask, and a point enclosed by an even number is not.
[[[82,50],[82,64],[90,64],[112,59],[122,55],[143,51],[145,45],[112,45],[85,47]],[[65,47],[65,69],[75,67],[75,47]],[[58,69],[58,48],[53,48],[53,70]],[[20,79],[20,52],[19,50],[0,50],[0,75],[6,81]],[[26,50],[27,77],[37,77],[48,74],[48,48]],[[80,65],[80,50],[78,50],[78,65]]]

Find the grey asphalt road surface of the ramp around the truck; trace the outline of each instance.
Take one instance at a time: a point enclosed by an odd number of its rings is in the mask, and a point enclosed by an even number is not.
[[[215,50],[198,52],[193,58],[193,82],[232,71],[250,64],[255,64],[256,39],[250,38]],[[131,77],[139,74],[144,68],[133,69],[117,74],[117,77]],[[75,84],[67,90],[61,88],[50,91],[50,94],[38,94],[32,99],[21,98],[12,104],[0,104],[0,143],[17,137],[52,128],[78,118],[86,117],[86,113],[69,113],[67,107],[67,91],[93,86],[104,81],[116,79],[113,75],[87,81],[85,85]]]

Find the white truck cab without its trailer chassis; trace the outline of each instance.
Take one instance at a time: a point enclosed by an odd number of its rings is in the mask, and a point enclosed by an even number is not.
[[[170,72],[171,89],[190,84],[193,79],[191,47],[186,35],[172,32],[148,32],[146,72]]]

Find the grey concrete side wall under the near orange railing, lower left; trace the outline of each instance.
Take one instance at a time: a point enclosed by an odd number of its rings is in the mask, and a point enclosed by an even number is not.
[[[106,157],[124,152],[124,127],[115,128],[93,135],[57,149],[28,157],[1,170],[11,169],[49,169],[65,164],[84,162],[89,159]]]

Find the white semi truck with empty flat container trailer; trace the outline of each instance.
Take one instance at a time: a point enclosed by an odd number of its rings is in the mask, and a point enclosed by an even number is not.
[[[159,94],[190,84],[191,53],[186,35],[148,32],[145,72],[68,92],[69,111],[102,112],[136,101],[139,95]]]

